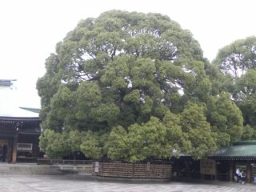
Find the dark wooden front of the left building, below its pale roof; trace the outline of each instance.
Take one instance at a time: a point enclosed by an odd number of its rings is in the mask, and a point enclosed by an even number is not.
[[[38,118],[0,117],[0,160],[2,162],[31,161],[38,158]]]

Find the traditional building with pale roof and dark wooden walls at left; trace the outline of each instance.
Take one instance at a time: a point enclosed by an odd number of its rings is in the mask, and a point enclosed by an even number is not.
[[[39,154],[38,109],[18,106],[14,82],[0,79],[0,161],[31,162]]]

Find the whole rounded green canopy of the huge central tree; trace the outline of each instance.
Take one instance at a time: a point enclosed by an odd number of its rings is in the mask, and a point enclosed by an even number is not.
[[[219,95],[218,76],[190,31],[167,16],[111,10],[87,18],[38,79],[40,145],[52,157],[203,158],[242,135],[242,114]]]

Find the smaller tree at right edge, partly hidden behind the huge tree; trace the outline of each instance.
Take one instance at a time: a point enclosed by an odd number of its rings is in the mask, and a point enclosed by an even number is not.
[[[245,125],[242,139],[256,139],[256,37],[238,39],[223,47],[214,65],[222,71],[226,82],[218,88],[229,91],[242,111]]]

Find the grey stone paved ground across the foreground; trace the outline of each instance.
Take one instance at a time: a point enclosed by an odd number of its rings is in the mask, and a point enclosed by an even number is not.
[[[232,182],[125,182],[71,176],[1,175],[1,192],[253,192],[256,185]]]

